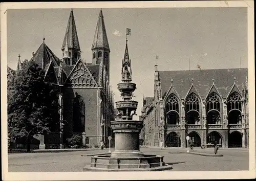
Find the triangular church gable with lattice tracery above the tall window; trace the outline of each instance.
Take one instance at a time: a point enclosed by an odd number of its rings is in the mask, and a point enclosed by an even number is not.
[[[74,88],[88,88],[98,86],[88,67],[81,61],[81,59],[77,61],[74,69],[71,71],[66,81],[66,85]]]

